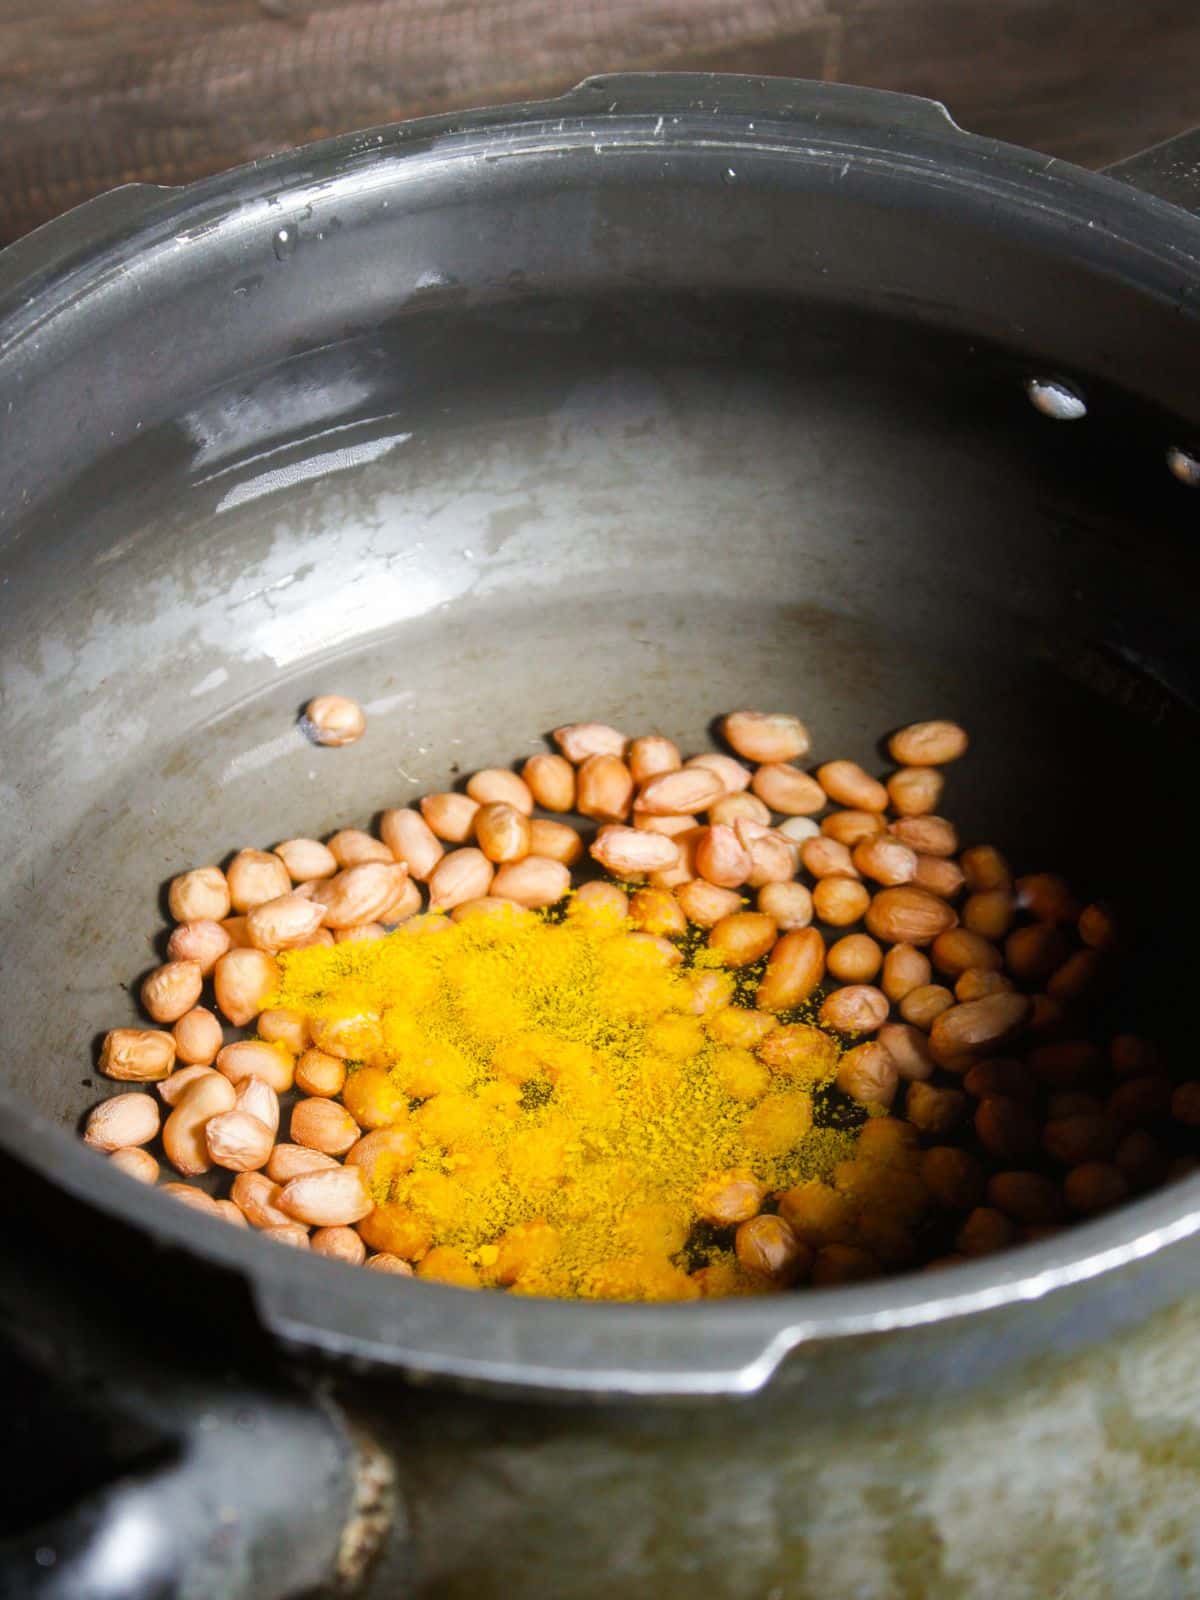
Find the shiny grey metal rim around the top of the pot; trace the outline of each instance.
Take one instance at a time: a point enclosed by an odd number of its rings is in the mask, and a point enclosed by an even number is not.
[[[765,85],[789,85],[790,98]],[[754,109],[755,96],[766,110]],[[664,117],[675,120],[654,133]],[[752,123],[758,126],[747,128]],[[955,192],[973,194],[1005,222],[1037,229],[1058,245],[1069,238],[1096,272],[1128,277],[1142,293],[1174,299],[1181,312],[1200,278],[1200,219],[1189,211],[1117,178],[963,133],[933,102],[790,80],[646,74],[589,80],[560,101],[346,134],[184,189],[130,186],[90,202],[0,253],[0,376],[3,362],[56,315],[125,270],[131,246],[152,269],[160,248],[226,227],[259,229],[272,218],[285,222],[306,197],[355,192],[373,178],[394,184],[414,158],[454,170],[459,162],[544,158],[589,146],[598,160],[605,152],[659,160],[776,152],[830,173],[845,162],[914,186],[957,184]],[[949,162],[960,171],[947,173]],[[512,1392],[752,1395],[781,1368],[803,1370],[808,1354],[830,1346],[882,1334],[918,1339],[992,1312],[1072,1306],[1109,1280],[1138,1299],[1142,1320],[1200,1285],[1200,1251],[1192,1245],[1200,1232],[1200,1179],[944,1274],[762,1301],[610,1306],[475,1296],[430,1283],[410,1288],[366,1272],[344,1275],[339,1286],[326,1262],[272,1253],[227,1224],[147,1195],[8,1093],[0,1093],[0,1147],[16,1168],[86,1206],[101,1227],[104,1218],[117,1219],[144,1234],[152,1250],[245,1277],[262,1325],[293,1349]],[[1075,1333],[1093,1338],[1106,1317],[1120,1322],[1133,1314],[1101,1307],[1094,1325]],[[997,1370],[1008,1355],[995,1352]]]

